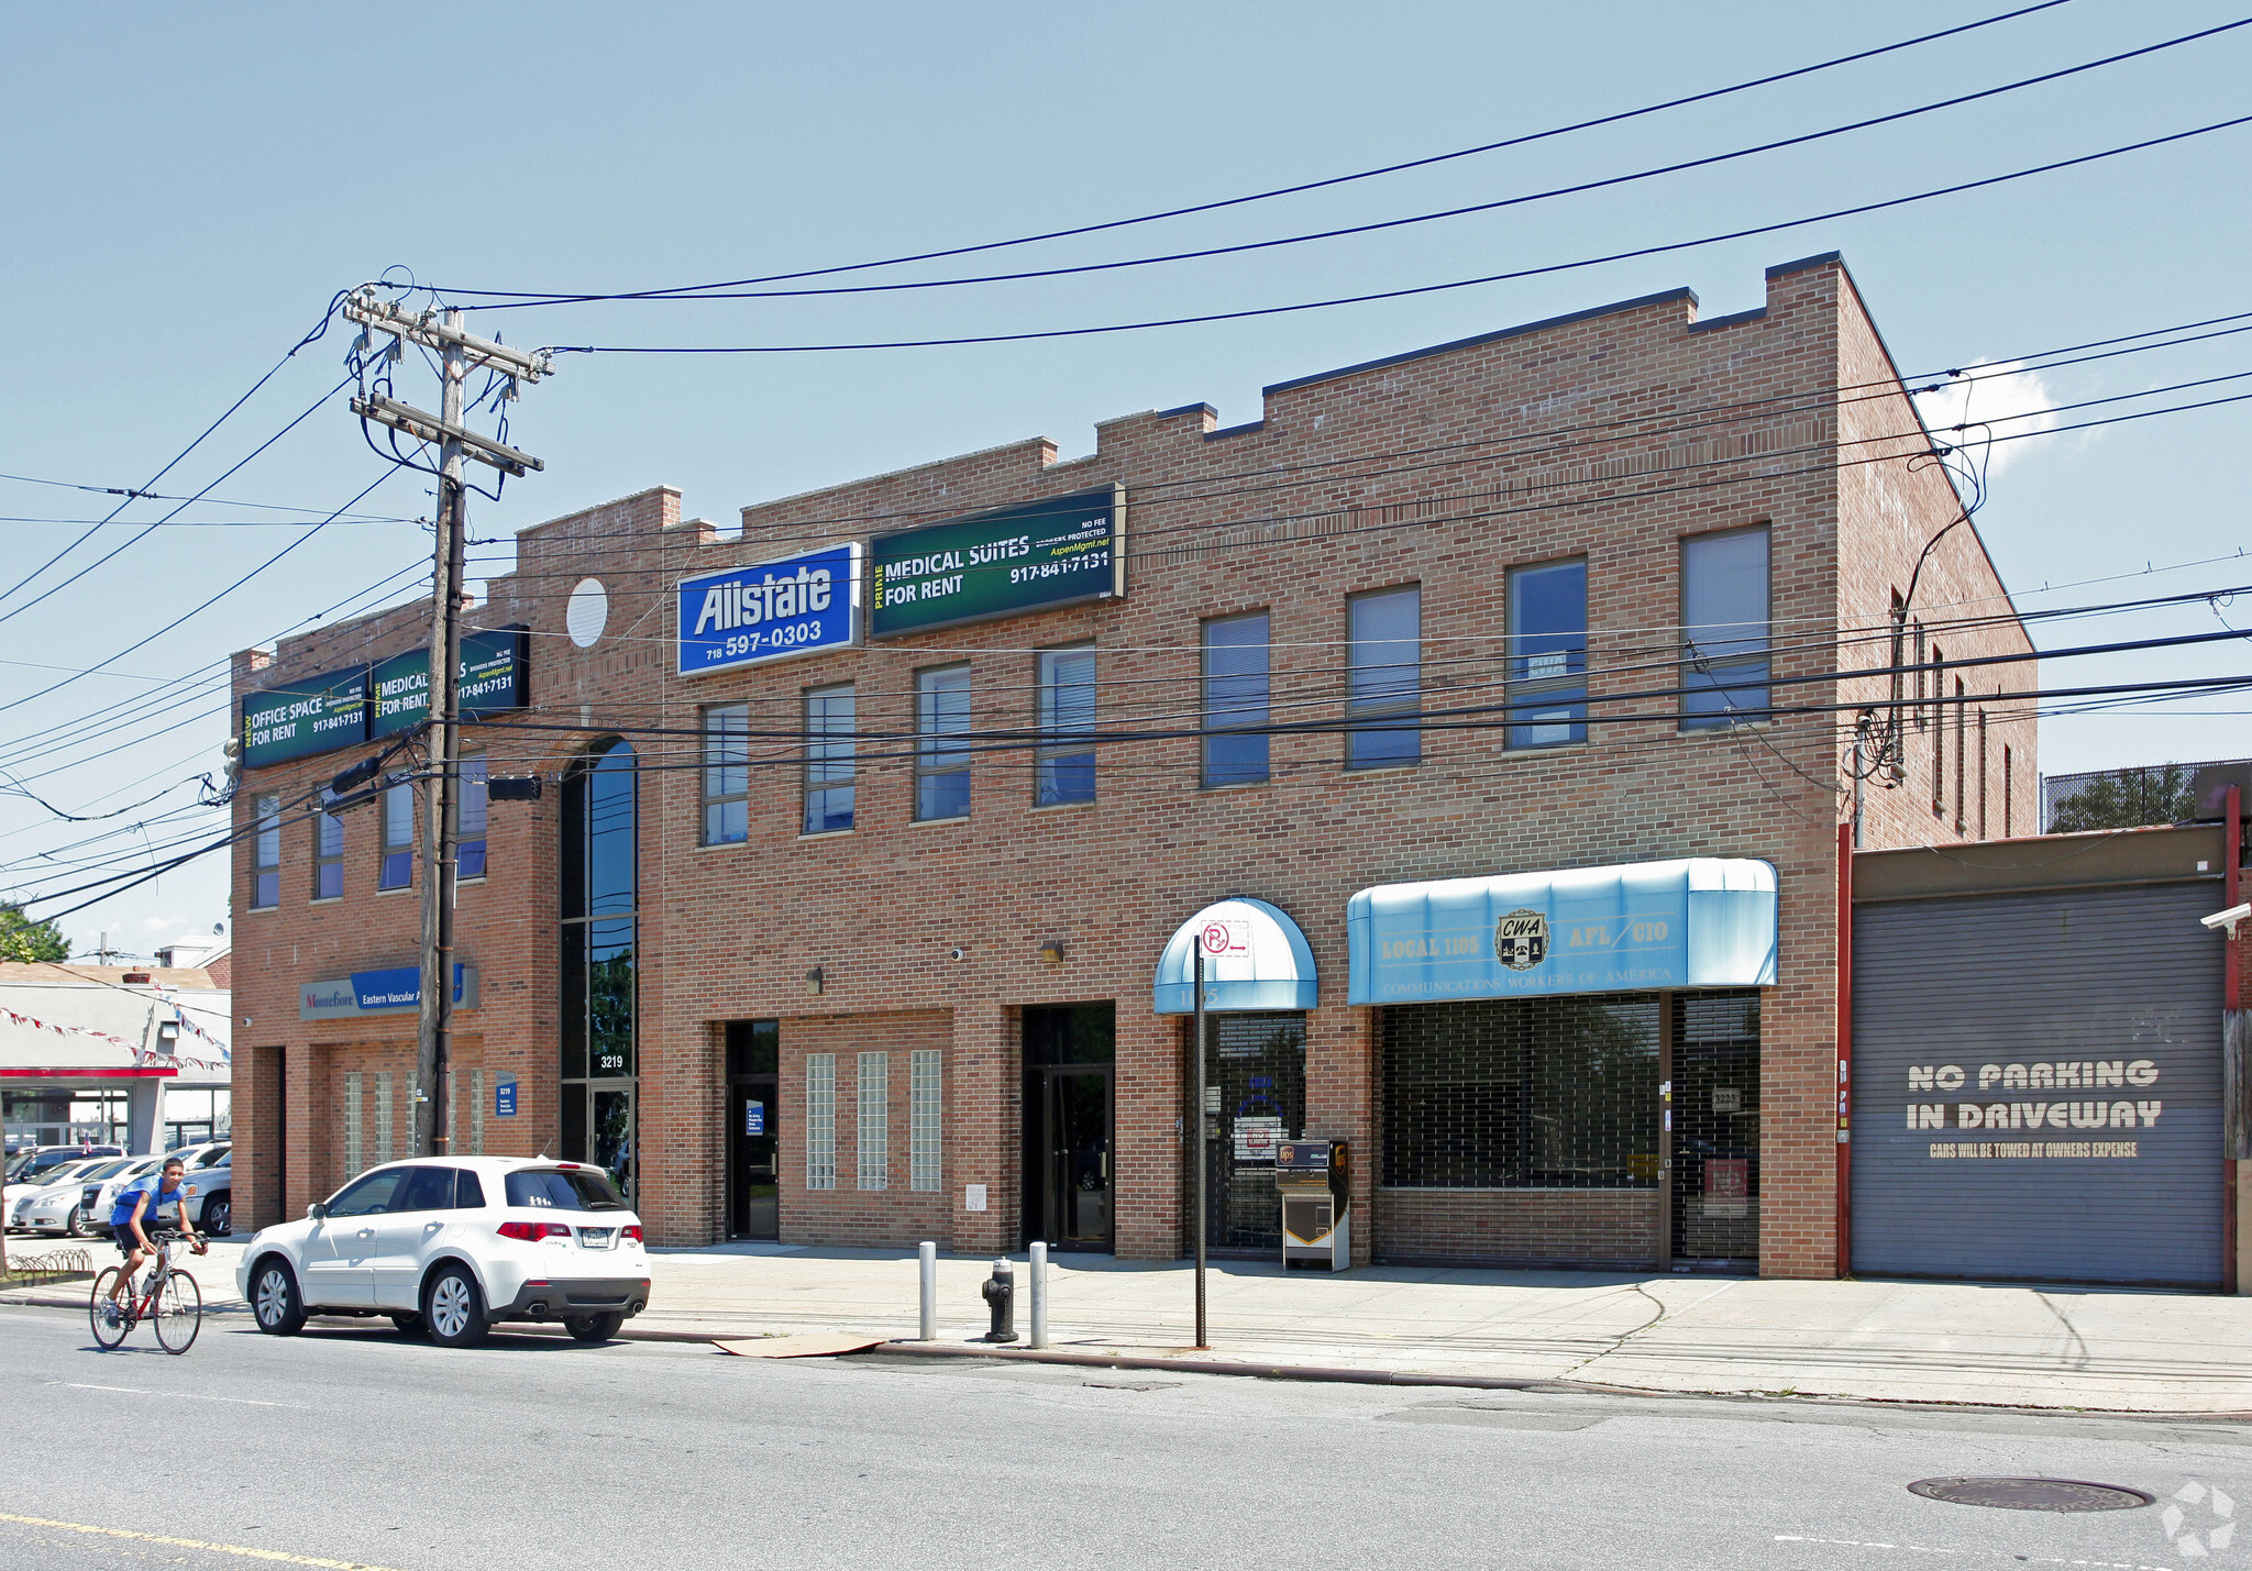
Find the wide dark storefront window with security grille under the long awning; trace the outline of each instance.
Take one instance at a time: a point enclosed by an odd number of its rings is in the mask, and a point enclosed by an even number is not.
[[[1385,1011],[1389,1188],[1655,1188],[1657,995]]]

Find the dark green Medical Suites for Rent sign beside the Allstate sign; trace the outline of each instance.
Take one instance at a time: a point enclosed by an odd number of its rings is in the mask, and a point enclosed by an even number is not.
[[[1126,488],[1076,491],[869,542],[869,637],[1126,594]]]

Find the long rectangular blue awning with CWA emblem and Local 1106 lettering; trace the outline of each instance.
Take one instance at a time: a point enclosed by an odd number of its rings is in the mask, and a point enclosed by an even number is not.
[[[1376,885],[1344,907],[1349,1004],[1775,986],[1775,867],[1687,858]]]

